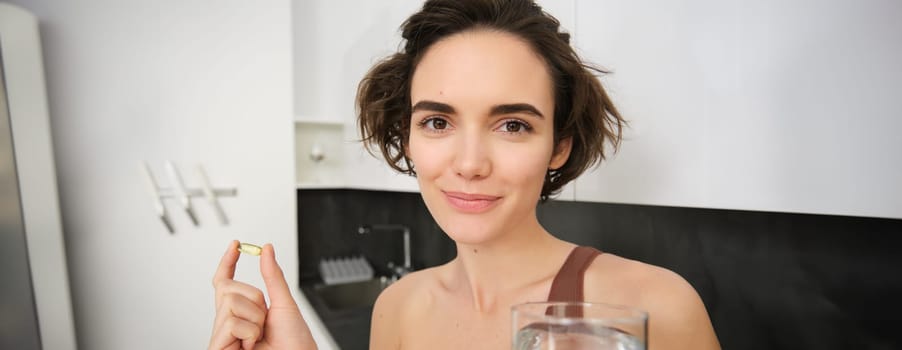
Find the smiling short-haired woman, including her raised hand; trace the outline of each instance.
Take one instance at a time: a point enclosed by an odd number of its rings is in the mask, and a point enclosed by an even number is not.
[[[458,254],[379,296],[372,349],[507,349],[511,306],[549,299],[646,310],[651,349],[719,348],[684,279],[577,249],[539,224],[537,203],[603,159],[624,123],[559,30],[532,1],[427,1],[403,25],[404,48],[361,82],[367,146],[416,176]],[[231,280],[230,249],[214,279],[220,307],[211,348],[315,347],[272,248],[261,262],[268,311],[259,290]],[[583,286],[562,296],[553,285],[576,260]]]

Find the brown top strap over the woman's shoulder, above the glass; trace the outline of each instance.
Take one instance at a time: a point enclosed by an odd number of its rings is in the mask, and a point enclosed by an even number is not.
[[[592,247],[573,248],[557,276],[554,276],[554,281],[551,282],[548,301],[585,301],[583,300],[583,275],[586,274],[586,269],[592,265],[592,261],[599,254],[601,252]]]

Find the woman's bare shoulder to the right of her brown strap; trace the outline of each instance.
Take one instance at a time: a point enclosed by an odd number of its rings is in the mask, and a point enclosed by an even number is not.
[[[650,349],[720,348],[698,292],[668,269],[602,254],[586,271],[585,295],[647,311]]]

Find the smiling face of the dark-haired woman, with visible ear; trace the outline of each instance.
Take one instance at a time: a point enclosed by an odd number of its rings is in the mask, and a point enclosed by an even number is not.
[[[569,155],[569,142],[554,152],[554,92],[541,57],[507,33],[450,36],[417,66],[411,105],[407,155],[452,239],[482,244],[538,228],[545,174]]]

